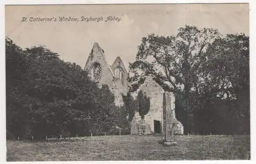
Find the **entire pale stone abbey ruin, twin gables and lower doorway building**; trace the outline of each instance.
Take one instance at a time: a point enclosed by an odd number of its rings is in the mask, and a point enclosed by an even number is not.
[[[99,86],[106,84],[115,95],[115,104],[122,106],[122,94],[126,95],[129,90],[129,82],[127,81],[128,73],[120,57],[117,57],[112,65],[109,65],[104,51],[97,42],[94,43],[92,51],[87,59],[84,69],[89,72],[92,80],[98,82]],[[132,134],[162,134],[163,133],[163,93],[162,87],[153,79],[147,78],[145,82],[133,92],[133,97],[137,96],[139,90],[143,90],[147,97],[150,97],[150,111],[142,120],[139,113],[135,112],[131,123]],[[174,115],[174,133],[183,134],[183,125],[175,118],[175,97],[171,94],[169,108],[173,110]]]

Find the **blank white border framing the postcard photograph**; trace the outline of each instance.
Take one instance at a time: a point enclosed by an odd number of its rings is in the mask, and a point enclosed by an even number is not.
[[[147,1],[117,1],[117,0],[109,0],[109,1],[82,1],[82,0],[74,0],[74,1],[68,1],[68,0],[62,0],[62,1],[55,1],[55,0],[24,0],[24,1],[18,1],[18,0],[5,0],[1,3],[1,17],[0,17],[0,26],[1,26],[1,42],[0,42],[0,50],[1,50],[1,59],[0,59],[0,74],[2,77],[1,80],[1,90],[0,90],[0,105],[1,105],[1,152],[0,160],[6,161],[6,119],[5,119],[5,5],[59,5],[59,4],[190,4],[190,3],[249,3],[250,5],[250,111],[251,111],[251,160],[204,160],[204,161],[157,161],[157,163],[254,163],[255,162],[255,142],[253,140],[255,136],[255,128],[253,129],[256,121],[255,118],[255,103],[253,100],[256,100],[256,79],[255,79],[255,70],[256,70],[256,64],[254,63],[255,60],[255,36],[256,36],[256,26],[254,21],[255,19],[255,2],[251,1],[221,1],[221,0],[208,0],[208,1],[153,1],[153,0],[147,0]],[[4,77],[4,78],[3,78]],[[253,162],[254,161],[254,162]],[[156,161],[72,161],[72,162],[33,162],[33,163],[156,163]],[[32,163],[32,162],[8,162],[8,163]]]

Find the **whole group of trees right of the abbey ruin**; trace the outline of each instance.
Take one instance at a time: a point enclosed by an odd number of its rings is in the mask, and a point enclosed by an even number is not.
[[[249,134],[249,37],[195,26],[150,34],[130,64],[131,90],[150,76],[176,95],[185,134]]]

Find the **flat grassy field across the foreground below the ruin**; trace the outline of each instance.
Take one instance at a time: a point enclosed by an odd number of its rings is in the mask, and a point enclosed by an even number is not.
[[[249,135],[175,137],[177,146],[159,144],[162,136],[156,135],[7,140],[7,161],[250,159]]]

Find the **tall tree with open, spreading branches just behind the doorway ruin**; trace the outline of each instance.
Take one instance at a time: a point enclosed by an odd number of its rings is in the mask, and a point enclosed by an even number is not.
[[[193,102],[191,91],[198,91],[199,68],[207,57],[208,45],[219,37],[215,29],[198,29],[185,26],[175,36],[155,34],[142,38],[138,46],[136,61],[130,63],[133,76],[130,81],[136,83],[151,76],[164,90],[179,94],[182,110],[186,113],[183,122],[184,131],[193,131]],[[136,85],[135,85],[136,86]],[[179,119],[179,118],[178,118]]]

